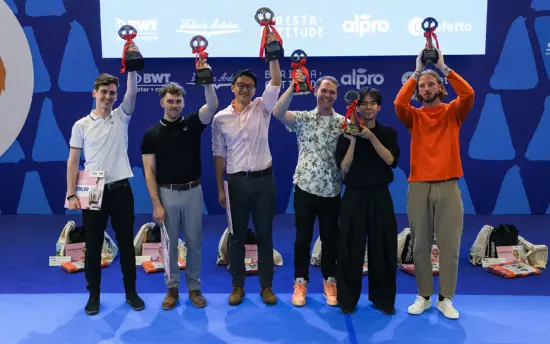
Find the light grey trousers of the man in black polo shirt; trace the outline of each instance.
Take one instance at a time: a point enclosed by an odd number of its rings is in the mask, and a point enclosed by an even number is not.
[[[177,191],[159,188],[159,197],[166,212],[164,225],[170,238],[170,281],[166,272],[164,281],[168,288],[180,285],[180,269],[178,266],[178,237],[183,224],[183,240],[187,246],[187,266],[185,268],[185,282],[189,290],[200,289],[199,273],[202,257],[202,187]]]

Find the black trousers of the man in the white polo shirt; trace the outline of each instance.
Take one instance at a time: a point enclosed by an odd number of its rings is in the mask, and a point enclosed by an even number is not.
[[[86,241],[85,275],[88,291],[92,295],[100,293],[101,250],[109,216],[118,245],[124,289],[126,292],[136,290],[134,195],[128,180],[112,184],[114,185],[106,185],[104,188],[101,210],[82,210]]]

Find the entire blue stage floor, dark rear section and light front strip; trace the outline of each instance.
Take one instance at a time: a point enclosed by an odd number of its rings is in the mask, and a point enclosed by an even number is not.
[[[322,296],[321,273],[311,267],[307,307],[296,308],[290,298],[293,284],[294,217],[277,216],[274,245],[284,260],[273,281],[279,296],[266,306],[259,296],[257,276],[247,277],[242,305],[227,304],[231,277],[216,266],[225,216],[204,219],[202,290],[209,304],[196,309],[187,301],[185,284],[181,304],[163,311],[166,292],[162,274],[138,269],[138,292],[147,303],[133,311],[124,300],[119,259],[102,270],[101,312],[84,313],[87,301],[83,273],[68,274],[49,267],[57,238],[69,219],[78,216],[0,216],[0,343],[550,343],[550,277],[505,279],[473,267],[468,250],[485,224],[515,224],[520,235],[534,244],[550,246],[550,216],[466,216],[461,246],[457,296],[459,320],[444,318],[434,307],[420,316],[407,314],[414,301],[414,277],[397,275],[397,313],[385,316],[368,301],[368,276],[356,313],[344,315],[329,307]],[[150,221],[137,216],[136,228]],[[399,216],[400,230],[407,225]],[[109,234],[114,239],[112,230]],[[314,240],[317,238],[317,233]],[[185,239],[185,238],[184,238]],[[312,242],[313,245],[313,242]],[[183,272],[183,271],[182,271]],[[437,277],[434,279],[437,292]]]

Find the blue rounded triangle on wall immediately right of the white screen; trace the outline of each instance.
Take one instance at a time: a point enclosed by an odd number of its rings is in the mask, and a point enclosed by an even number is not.
[[[518,17],[504,42],[500,60],[491,78],[496,90],[529,90],[539,82],[533,48],[525,27],[525,17]]]

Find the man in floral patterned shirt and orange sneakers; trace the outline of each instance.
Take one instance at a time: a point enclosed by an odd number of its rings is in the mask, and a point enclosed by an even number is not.
[[[304,81],[299,70],[296,80]],[[294,87],[289,87],[273,110],[273,116],[298,138],[298,165],[294,173],[296,240],[292,304],[306,304],[310,246],[318,218],[324,295],[329,305],[337,306],[335,265],[341,180],[334,154],[345,120],[332,108],[338,95],[338,81],[330,76],[317,81],[314,89],[317,106],[310,111],[287,111],[293,95]]]

